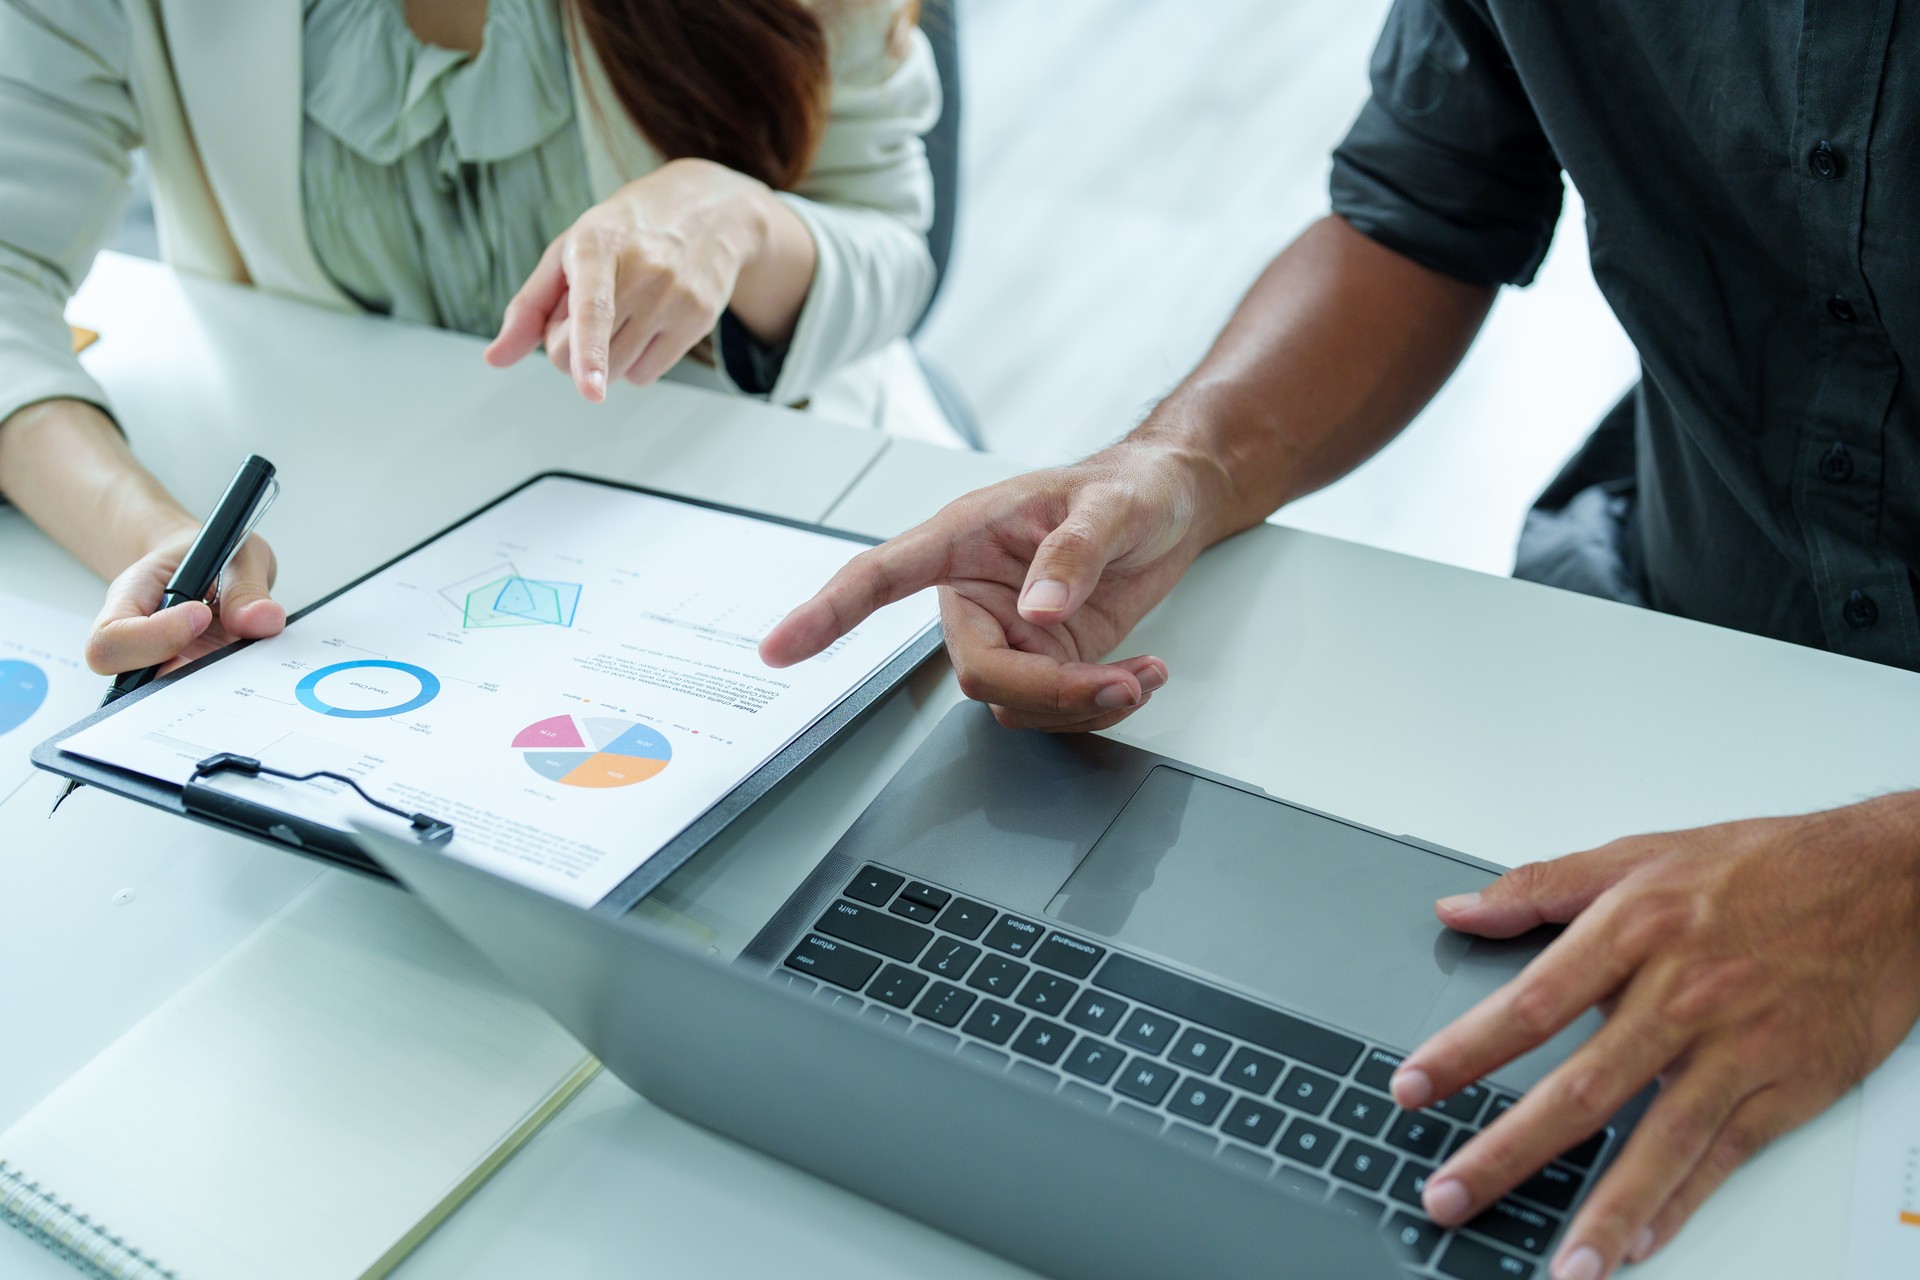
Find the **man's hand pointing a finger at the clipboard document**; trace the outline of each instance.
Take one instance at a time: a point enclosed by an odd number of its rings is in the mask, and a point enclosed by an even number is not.
[[[793,666],[937,585],[970,699],[1016,729],[1104,729],[1167,681],[1160,658],[1100,658],[1217,535],[1200,530],[1200,484],[1183,455],[1123,443],[977,489],[854,557],[760,641],[760,656]]]

